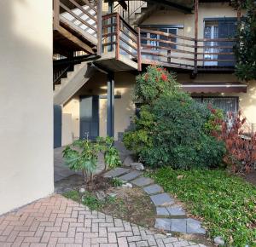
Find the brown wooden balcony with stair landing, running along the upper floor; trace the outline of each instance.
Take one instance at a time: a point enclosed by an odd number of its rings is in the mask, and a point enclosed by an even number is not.
[[[98,55],[108,71],[156,64],[191,72],[233,72],[235,38],[195,38],[133,29],[118,13],[102,16],[102,1],[54,0],[54,49]]]

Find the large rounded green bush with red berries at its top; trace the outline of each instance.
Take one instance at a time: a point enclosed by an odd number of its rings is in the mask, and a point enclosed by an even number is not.
[[[149,90],[143,89],[142,78],[148,75],[154,85],[157,83],[154,75],[158,72],[158,82],[166,78],[164,84],[169,85],[148,94]],[[148,88],[148,83],[145,84]],[[145,91],[150,97],[143,95]],[[134,129],[125,133],[124,142],[145,164],[189,169],[216,167],[221,163],[224,144],[205,131],[211,112],[184,93],[168,72],[149,66],[139,77],[134,98],[140,99],[143,106],[139,117],[134,119]]]

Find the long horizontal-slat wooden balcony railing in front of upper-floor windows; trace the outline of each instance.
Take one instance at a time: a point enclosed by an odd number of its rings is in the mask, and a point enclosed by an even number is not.
[[[160,63],[190,70],[207,66],[234,66],[235,38],[185,37],[154,30],[141,30],[143,63]]]

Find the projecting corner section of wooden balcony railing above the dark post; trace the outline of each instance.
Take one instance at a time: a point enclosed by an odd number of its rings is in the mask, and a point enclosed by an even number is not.
[[[102,16],[102,54],[115,54],[138,62],[140,70],[140,41],[138,32],[129,26],[118,13]]]

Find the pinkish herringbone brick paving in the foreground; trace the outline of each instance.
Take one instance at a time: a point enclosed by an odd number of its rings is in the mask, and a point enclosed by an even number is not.
[[[196,246],[54,195],[0,216],[0,246]]]

